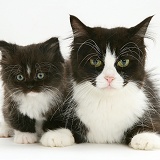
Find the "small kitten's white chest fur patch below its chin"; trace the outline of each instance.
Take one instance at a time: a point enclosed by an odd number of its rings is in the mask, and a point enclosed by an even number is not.
[[[53,95],[54,96],[54,95]],[[49,110],[53,98],[47,93],[29,93],[19,95],[15,100],[19,104],[19,111],[30,118],[42,120],[42,114]]]

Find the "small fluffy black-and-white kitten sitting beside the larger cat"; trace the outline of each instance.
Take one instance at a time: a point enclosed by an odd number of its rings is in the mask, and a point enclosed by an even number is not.
[[[14,142],[34,143],[43,121],[58,110],[63,101],[64,59],[58,38],[28,46],[0,41],[1,75],[4,86],[0,137]]]

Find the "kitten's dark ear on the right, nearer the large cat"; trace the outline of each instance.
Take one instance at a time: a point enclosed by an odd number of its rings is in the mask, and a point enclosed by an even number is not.
[[[60,62],[64,62],[64,58],[61,54],[59,47],[59,40],[57,37],[52,37],[49,40],[41,43],[40,50],[48,56],[49,59],[56,59]]]

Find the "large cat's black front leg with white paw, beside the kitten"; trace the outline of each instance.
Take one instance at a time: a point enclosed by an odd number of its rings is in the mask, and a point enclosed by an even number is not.
[[[60,115],[60,114],[59,114]],[[65,147],[73,145],[75,140],[72,132],[65,128],[62,117],[54,115],[43,124],[44,134],[40,142],[46,147]]]

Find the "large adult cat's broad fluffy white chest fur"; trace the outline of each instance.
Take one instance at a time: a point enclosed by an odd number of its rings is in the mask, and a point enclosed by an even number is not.
[[[134,83],[120,90],[97,89],[89,82],[74,87],[76,113],[93,143],[120,142],[124,132],[147,110],[147,98]]]

